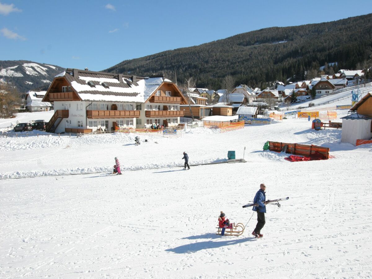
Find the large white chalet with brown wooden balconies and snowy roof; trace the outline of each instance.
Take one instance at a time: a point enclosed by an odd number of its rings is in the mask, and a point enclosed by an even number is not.
[[[43,102],[54,103],[49,132],[89,132],[97,128],[175,126],[187,101],[170,80],[68,68],[54,77]]]

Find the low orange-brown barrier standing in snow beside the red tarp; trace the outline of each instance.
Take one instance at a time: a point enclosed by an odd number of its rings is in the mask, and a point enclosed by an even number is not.
[[[269,150],[281,152],[285,149],[285,145],[287,145],[286,153],[302,156],[311,156],[318,153],[322,154],[326,159],[329,158],[329,148],[316,145],[269,141]]]

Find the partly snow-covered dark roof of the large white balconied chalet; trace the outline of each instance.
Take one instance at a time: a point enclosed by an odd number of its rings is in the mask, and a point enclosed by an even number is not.
[[[56,77],[65,77],[82,100],[145,102],[163,82],[164,76],[129,77],[94,71],[67,69]]]

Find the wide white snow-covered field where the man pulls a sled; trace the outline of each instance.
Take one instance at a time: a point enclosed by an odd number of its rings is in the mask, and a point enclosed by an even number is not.
[[[0,137],[0,278],[371,278],[372,145],[310,128],[307,119],[195,128],[140,134],[139,146],[135,134]],[[290,163],[262,151],[267,140],[329,147],[334,158]],[[247,163],[173,167],[183,151],[195,164],[228,150],[242,158],[244,147]],[[115,156],[123,175],[106,175]],[[94,171],[103,173],[69,175]],[[4,179],[23,176],[37,177]],[[289,200],[267,205],[255,239],[256,215],[242,205],[262,182],[267,199]],[[252,217],[243,235],[215,235],[220,211],[244,225]]]

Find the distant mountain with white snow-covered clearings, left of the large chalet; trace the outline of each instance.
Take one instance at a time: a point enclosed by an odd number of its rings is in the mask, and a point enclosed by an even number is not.
[[[24,94],[28,90],[47,90],[54,76],[65,68],[25,60],[0,61],[0,79],[16,86]]]

